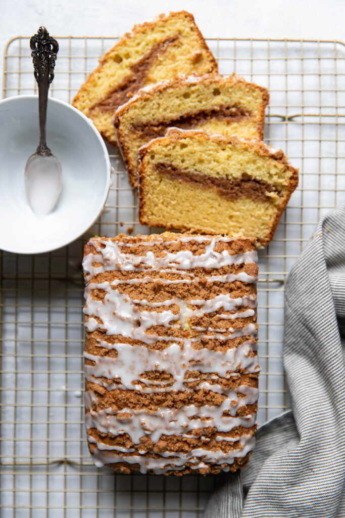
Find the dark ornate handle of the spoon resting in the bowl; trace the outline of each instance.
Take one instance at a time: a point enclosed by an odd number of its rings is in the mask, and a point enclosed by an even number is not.
[[[49,36],[46,27],[40,27],[37,34],[30,39],[31,55],[34,64],[34,76],[38,84],[38,110],[39,110],[39,145],[37,153],[42,156],[51,155],[46,143],[46,120],[48,90],[54,79],[54,66],[58,43]]]

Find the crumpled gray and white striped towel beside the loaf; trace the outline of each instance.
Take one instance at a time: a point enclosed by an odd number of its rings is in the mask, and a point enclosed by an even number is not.
[[[224,476],[204,518],[345,516],[344,346],[345,206],[320,221],[287,281],[293,412],[259,429],[249,465]]]

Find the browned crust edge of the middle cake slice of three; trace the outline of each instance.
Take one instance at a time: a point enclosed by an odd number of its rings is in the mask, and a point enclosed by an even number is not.
[[[170,81],[161,81],[155,85],[153,85],[149,91],[145,90],[139,90],[138,94],[133,100],[129,100],[128,103],[124,104],[123,106],[119,107],[114,115],[114,126],[117,130],[117,140],[119,143],[119,147],[121,147],[124,161],[126,163],[128,174],[129,174],[129,181],[130,184],[133,187],[137,186],[137,167],[136,164],[133,164],[130,157],[130,150],[127,146],[127,142],[125,140],[125,137],[123,135],[123,132],[121,131],[121,124],[120,120],[121,117],[128,112],[132,104],[137,102],[137,100],[141,99],[151,99],[153,96],[157,95],[160,92],[164,92],[165,90],[168,90],[170,88],[178,88],[183,87],[186,84],[196,84],[199,80],[202,81],[204,85],[212,84],[212,83],[219,83],[220,85],[247,85],[251,89],[255,89],[257,91],[260,91],[262,94],[262,105],[260,107],[260,115],[257,121],[258,124],[258,132],[260,139],[263,139],[264,136],[264,124],[265,124],[265,109],[269,101],[269,94],[268,91],[258,86],[255,83],[250,83],[246,81],[244,78],[237,76],[236,74],[233,74],[229,76],[228,78],[224,78],[223,76],[220,76],[218,74],[212,73],[212,74],[202,74],[202,75],[194,75],[196,77],[195,83],[192,81],[191,77],[186,80],[186,76],[178,76]]]

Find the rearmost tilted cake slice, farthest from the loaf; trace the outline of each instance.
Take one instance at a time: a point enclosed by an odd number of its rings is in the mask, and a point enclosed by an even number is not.
[[[140,88],[178,74],[203,74],[217,69],[193,16],[186,11],[171,12],[135,25],[126,33],[100,59],[72,104],[115,145],[113,114]]]

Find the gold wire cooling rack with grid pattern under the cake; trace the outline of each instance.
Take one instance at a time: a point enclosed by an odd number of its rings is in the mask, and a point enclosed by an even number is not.
[[[71,102],[117,38],[57,39],[50,95]],[[217,38],[207,43],[220,73],[235,71],[269,89],[265,140],[286,151],[301,170],[274,240],[259,251],[262,423],[289,407],[281,357],[287,274],[321,215],[344,199],[345,47],[337,41]],[[36,93],[28,37],[9,41],[4,64],[4,97]],[[139,225],[124,166],[116,150],[108,149],[113,187],[91,233],[151,232]],[[1,255],[2,515],[201,516],[217,477],[120,476],[95,468],[89,458],[83,423],[81,274],[89,234],[49,254]]]

